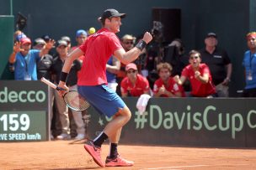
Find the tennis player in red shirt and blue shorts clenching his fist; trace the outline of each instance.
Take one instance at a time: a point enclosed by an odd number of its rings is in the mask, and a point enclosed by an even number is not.
[[[109,89],[105,74],[106,64],[111,55],[115,55],[124,64],[131,63],[152,40],[152,35],[146,32],[143,39],[134,48],[125,52],[120,44],[120,39],[115,34],[120,32],[121,18],[125,18],[125,13],[119,13],[115,9],[104,11],[99,18],[102,28],[89,36],[83,45],[69,54],[63,66],[59,83],[59,87],[68,89],[66,80],[69,68],[73,60],[84,54],[83,66],[77,83],[78,92],[100,114],[113,118],[93,142],[84,145],[85,150],[100,167],[127,167],[134,164],[134,162],[120,157],[117,151],[122,127],[131,119],[131,111],[120,96]],[[63,91],[60,91],[60,94],[62,93]],[[110,149],[109,156],[103,162],[101,146],[106,139],[109,139]]]

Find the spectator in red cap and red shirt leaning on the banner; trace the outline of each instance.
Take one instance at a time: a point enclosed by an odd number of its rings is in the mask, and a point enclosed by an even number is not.
[[[149,84],[145,77],[138,74],[136,64],[130,63],[125,67],[126,77],[121,81],[122,97],[141,96],[149,94]]]

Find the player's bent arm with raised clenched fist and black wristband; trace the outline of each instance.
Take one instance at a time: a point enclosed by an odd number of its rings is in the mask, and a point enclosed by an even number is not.
[[[117,49],[114,54],[117,59],[119,59],[123,64],[129,64],[134,61],[141,54],[141,51],[146,47],[146,45],[152,40],[152,35],[148,32],[144,33],[143,39],[136,44],[136,46],[125,52],[125,49]]]

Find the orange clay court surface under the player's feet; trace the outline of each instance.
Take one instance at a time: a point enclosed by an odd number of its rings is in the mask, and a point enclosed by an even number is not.
[[[119,150],[135,161],[134,167],[98,167],[83,143],[70,142],[1,143],[0,169],[256,169],[255,149],[128,145],[120,145]],[[103,146],[103,157],[108,149]]]

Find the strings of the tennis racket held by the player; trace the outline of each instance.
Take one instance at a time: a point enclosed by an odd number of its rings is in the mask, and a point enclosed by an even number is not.
[[[69,91],[64,95],[64,100],[67,106],[72,107],[72,109],[76,111],[86,110],[90,104],[87,100],[83,98],[83,96],[79,95],[77,91]]]

